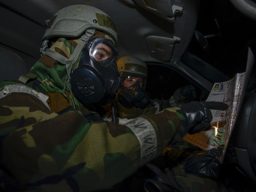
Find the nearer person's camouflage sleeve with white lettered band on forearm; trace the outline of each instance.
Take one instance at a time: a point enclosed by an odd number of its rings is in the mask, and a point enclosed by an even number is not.
[[[58,115],[26,93],[1,98],[0,108],[0,186],[7,191],[107,189],[185,134],[172,108],[124,124]]]

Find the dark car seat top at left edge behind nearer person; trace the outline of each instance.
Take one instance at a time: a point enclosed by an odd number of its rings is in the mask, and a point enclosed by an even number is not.
[[[15,80],[28,73],[22,58],[3,47],[0,47],[0,80]]]

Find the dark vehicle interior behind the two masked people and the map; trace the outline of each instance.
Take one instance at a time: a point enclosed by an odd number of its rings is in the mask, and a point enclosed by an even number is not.
[[[248,48],[256,55],[255,0],[0,0],[0,80],[18,79],[40,58],[48,20],[74,4],[106,12],[117,28],[119,58],[148,67],[146,91],[168,99],[185,85],[204,101],[214,82],[245,72]],[[228,143],[220,181],[230,192],[256,187],[256,67]]]

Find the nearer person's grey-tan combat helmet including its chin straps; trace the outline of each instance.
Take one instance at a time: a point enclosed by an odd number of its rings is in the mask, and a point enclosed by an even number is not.
[[[71,67],[76,62],[82,49],[90,38],[95,35],[95,30],[110,36],[108,40],[117,45],[117,31],[112,19],[103,11],[88,5],[71,5],[56,12],[49,20],[42,38],[41,55],[47,55],[66,65],[68,78],[70,79]],[[52,37],[81,36],[81,40],[75,47],[72,57],[67,59],[63,55],[50,50]]]

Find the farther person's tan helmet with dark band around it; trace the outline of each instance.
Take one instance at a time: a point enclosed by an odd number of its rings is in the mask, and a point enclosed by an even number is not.
[[[146,63],[135,56],[123,56],[117,60],[117,69],[122,74],[122,72],[148,76]]]

